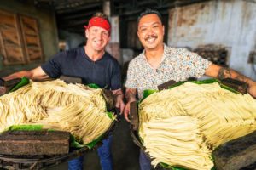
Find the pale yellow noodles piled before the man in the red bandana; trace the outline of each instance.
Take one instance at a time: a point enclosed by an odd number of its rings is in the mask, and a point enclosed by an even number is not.
[[[41,124],[68,131],[88,144],[105,133],[113,119],[107,114],[102,89],[79,83],[30,81],[0,97],[0,132],[12,125]]]

